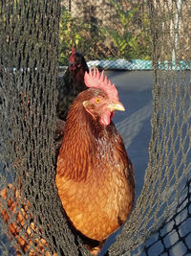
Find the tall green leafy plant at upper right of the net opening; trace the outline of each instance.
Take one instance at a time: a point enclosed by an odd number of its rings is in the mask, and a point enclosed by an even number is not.
[[[117,1],[111,0],[118,14],[117,29],[105,29],[105,33],[117,47],[120,58],[143,58],[149,59],[151,56],[151,35],[149,34],[148,14],[139,17],[139,8],[133,8],[125,12],[121,9]],[[142,27],[138,28],[135,18],[139,18]]]

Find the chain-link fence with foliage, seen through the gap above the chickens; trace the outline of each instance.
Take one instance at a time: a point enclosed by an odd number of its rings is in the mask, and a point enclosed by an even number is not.
[[[62,1],[61,5],[61,65],[67,64],[72,45],[87,60],[151,59],[152,38],[145,1]],[[124,61],[112,65],[107,61],[103,65],[125,67]]]

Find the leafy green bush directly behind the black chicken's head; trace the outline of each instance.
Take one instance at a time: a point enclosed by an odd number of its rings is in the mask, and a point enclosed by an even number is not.
[[[77,52],[86,59],[105,58],[105,35],[99,26],[86,23],[82,18],[72,16],[65,8],[61,10],[59,32],[59,64],[67,65],[71,48],[74,45]]]

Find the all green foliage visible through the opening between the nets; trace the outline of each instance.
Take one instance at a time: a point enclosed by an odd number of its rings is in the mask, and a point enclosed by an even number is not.
[[[98,22],[86,23],[61,10],[59,33],[59,64],[67,65],[72,45],[88,59],[143,58],[151,56],[151,35],[148,14],[139,14],[139,5],[124,11],[117,1],[111,0],[117,10],[117,23],[112,28]],[[141,24],[141,27],[140,25]]]

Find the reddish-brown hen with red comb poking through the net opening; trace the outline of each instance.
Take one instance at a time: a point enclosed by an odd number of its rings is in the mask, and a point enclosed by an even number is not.
[[[131,213],[134,170],[112,122],[114,110],[124,110],[115,85],[96,69],[85,82],[90,88],[79,93],[67,117],[55,183],[74,228],[101,247]],[[96,255],[98,247],[89,249]]]

